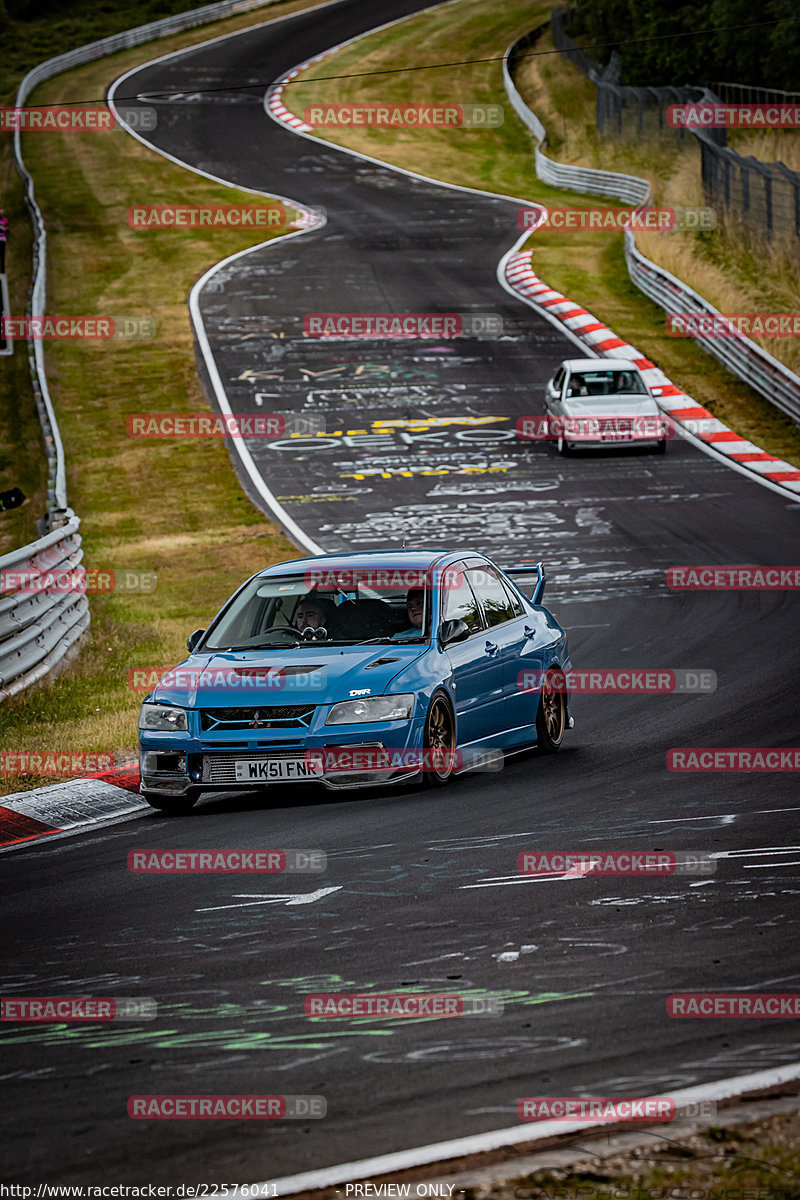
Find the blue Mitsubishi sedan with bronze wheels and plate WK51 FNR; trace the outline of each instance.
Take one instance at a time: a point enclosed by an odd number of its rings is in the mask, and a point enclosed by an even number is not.
[[[530,595],[513,582],[531,581]],[[572,727],[566,634],[541,563],[464,551],[319,554],[259,571],[139,715],[142,794],[433,785]]]

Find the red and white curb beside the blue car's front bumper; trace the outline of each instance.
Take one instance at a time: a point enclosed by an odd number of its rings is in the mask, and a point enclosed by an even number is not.
[[[139,796],[138,766],[13,792],[0,797],[0,850],[148,808]]]

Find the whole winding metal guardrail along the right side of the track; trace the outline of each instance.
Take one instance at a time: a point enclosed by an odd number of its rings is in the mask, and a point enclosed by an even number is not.
[[[609,170],[594,170],[589,167],[573,167],[569,163],[557,163],[546,158],[541,152],[540,148],[547,137],[545,126],[528,108],[511,78],[513,60],[519,55],[523,46],[530,44],[531,36],[529,34],[527,37],[519,38],[506,50],[503,60],[503,79],[515,112],[536,137],[537,178],[555,187],[570,187],[572,191],[588,192],[593,196],[618,196],[620,199],[639,206],[646,204],[650,197],[650,184],[645,179]],[[625,262],[628,275],[637,288],[667,312],[718,314],[718,310],[702,295],[662,266],[645,258],[637,250],[636,238],[630,229],[625,230]],[[751,338],[740,334],[733,337],[698,336],[696,341],[760,396],[764,396],[771,404],[800,424],[800,378],[787,366],[774,359]]]

